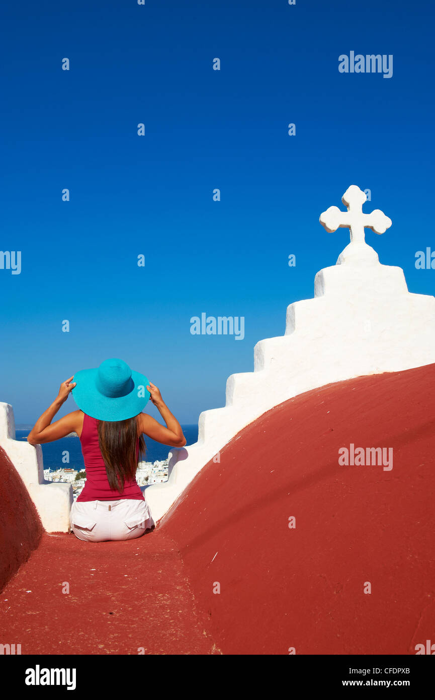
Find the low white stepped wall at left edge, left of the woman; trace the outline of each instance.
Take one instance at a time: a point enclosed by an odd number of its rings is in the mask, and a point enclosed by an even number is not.
[[[70,484],[55,484],[44,479],[41,446],[27,440],[15,440],[12,406],[0,402],[0,447],[8,455],[33,500],[47,532],[69,531],[69,510],[73,503]]]

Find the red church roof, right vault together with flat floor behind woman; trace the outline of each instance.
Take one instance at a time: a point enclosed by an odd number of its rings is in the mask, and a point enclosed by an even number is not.
[[[154,532],[43,534],[1,593],[3,638],[22,654],[415,654],[435,629],[434,409],[435,365],[283,403]],[[350,444],[392,448],[392,469],[340,465]]]

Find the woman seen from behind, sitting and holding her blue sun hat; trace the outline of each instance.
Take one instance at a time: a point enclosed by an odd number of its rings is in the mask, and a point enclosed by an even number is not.
[[[73,380],[73,381],[72,381]],[[80,407],[51,423],[72,393]],[[142,413],[151,399],[166,428]],[[77,433],[86,483],[71,507],[70,523],[79,540],[131,540],[155,527],[148,503],[136,482],[143,434],[171,447],[186,444],[180,423],[164,403],[157,386],[119,359],[97,369],[81,370],[63,382],[57,398],[36,421],[27,440],[43,444]]]

